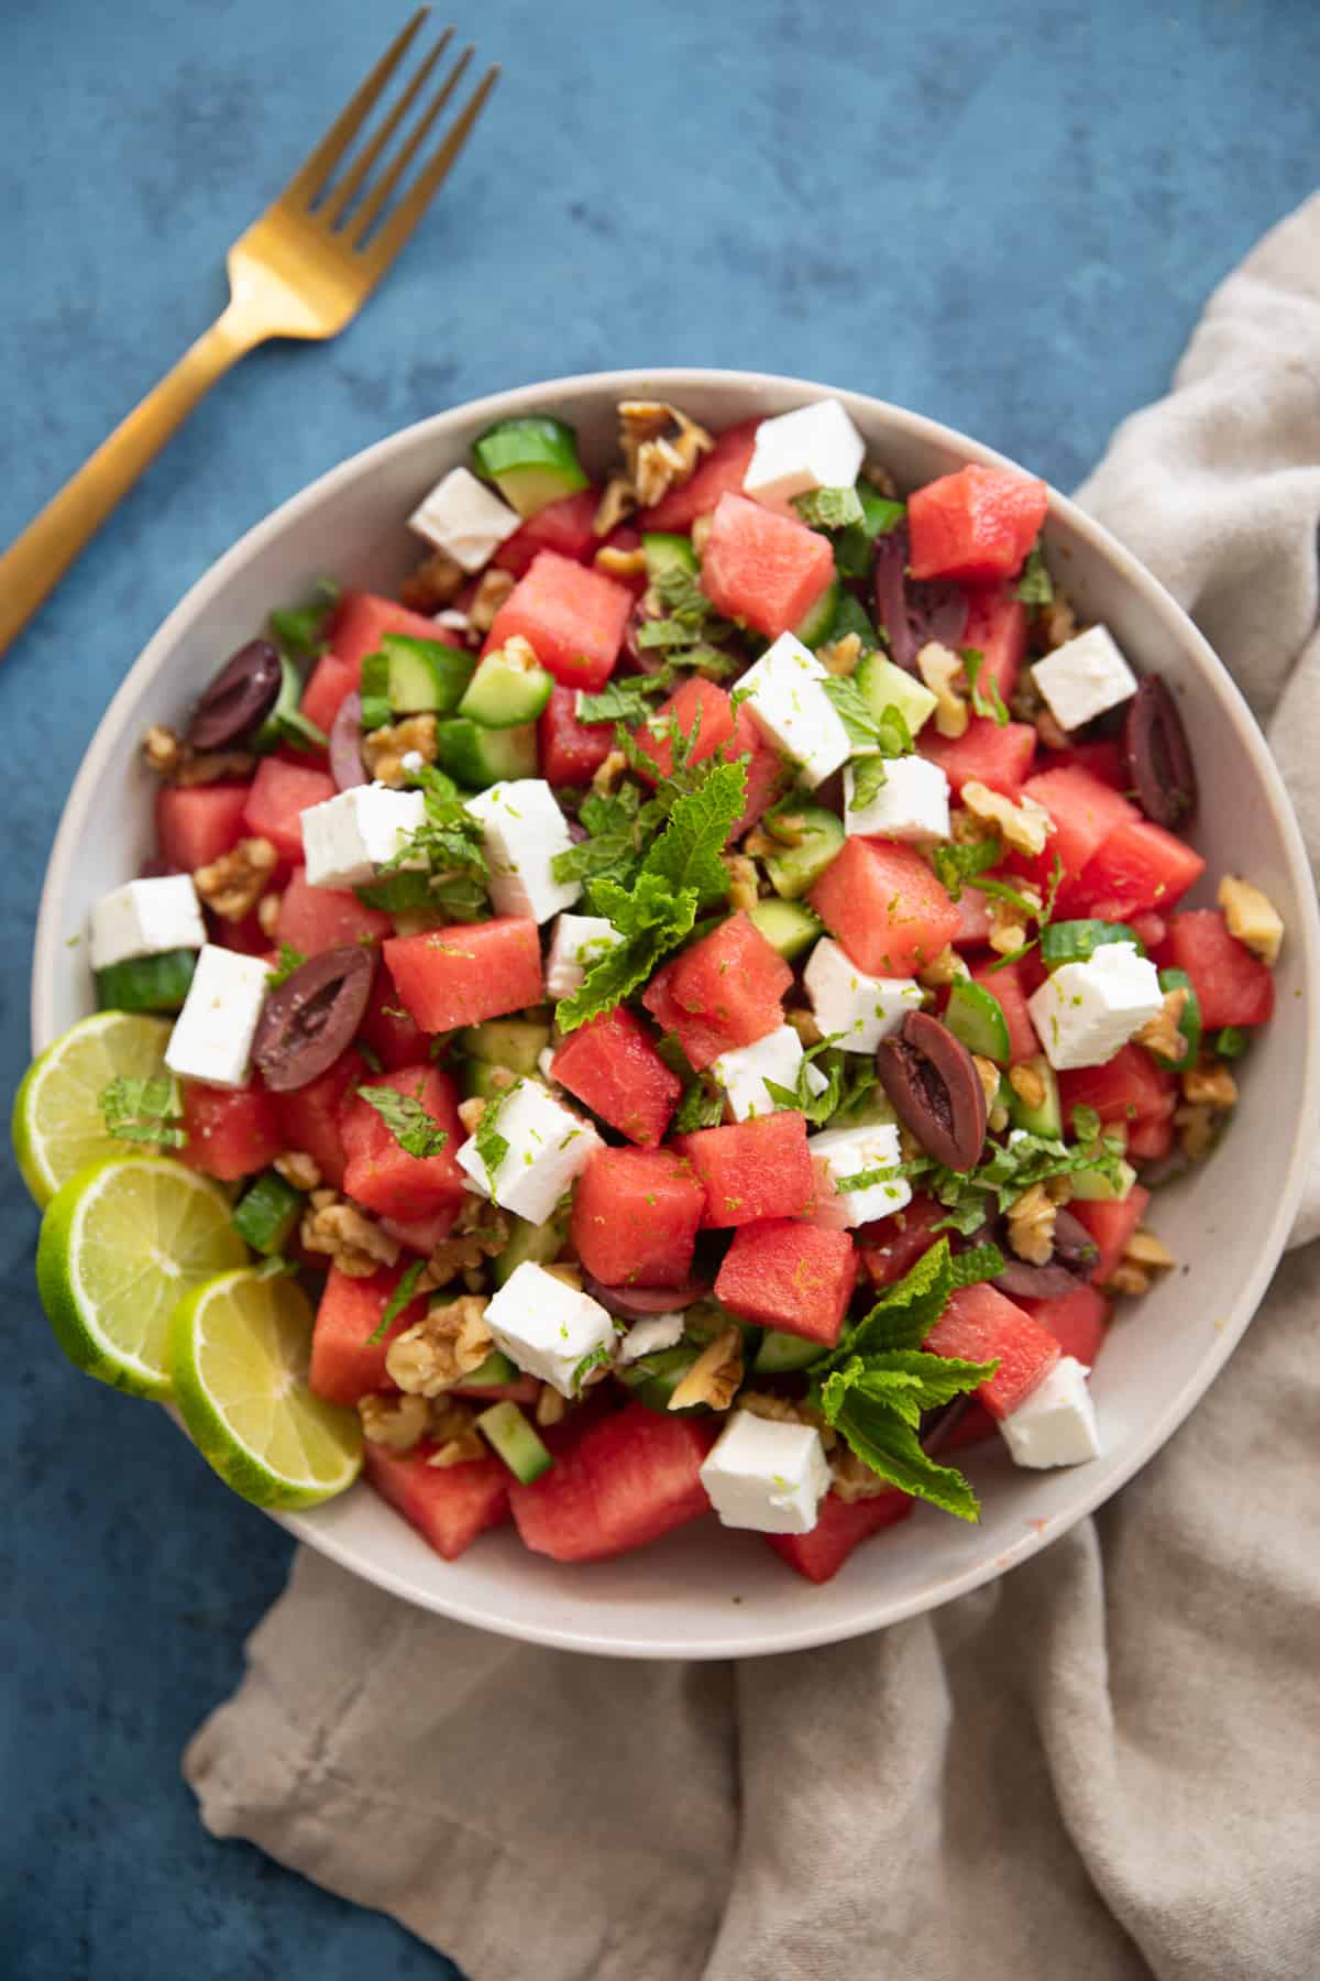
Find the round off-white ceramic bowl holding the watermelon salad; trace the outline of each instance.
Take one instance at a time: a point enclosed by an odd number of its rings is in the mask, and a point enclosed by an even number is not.
[[[754,372],[600,372],[501,392],[437,414],[323,475],[267,517],[170,614],[115,695],[63,812],[36,937],[32,1032],[46,1046],[91,1010],[81,953],[69,949],[91,901],[137,872],[150,848],[152,784],[139,761],[148,721],[180,721],[216,666],[273,604],[330,571],[390,590],[416,559],[404,517],[437,475],[465,460],[495,418],[550,410],[578,428],[588,466],[613,452],[619,398],[671,398],[710,428],[784,412],[823,386]],[[1001,456],[895,406],[837,394],[875,458],[914,487],[968,460]],[[792,1575],[750,1533],[697,1521],[655,1547],[594,1567],[528,1555],[513,1531],[445,1563],[358,1486],[285,1525],[342,1567],[425,1609],[511,1636],[612,1656],[722,1658],[798,1650],[875,1630],[976,1589],[1045,1547],[1122,1486],[1223,1367],[1257,1307],[1298,1202],[1304,1127],[1320,1117],[1312,987],[1320,933],[1302,840],[1265,741],[1223,666],[1168,592],[1061,495],[1047,545],[1083,616],[1104,620],[1142,670],[1179,693],[1201,777],[1195,844],[1213,899],[1225,870],[1249,874],[1288,935],[1278,1008],[1253,1048],[1227,1147],[1193,1183],[1160,1197],[1160,1236],[1183,1264],[1116,1321],[1094,1373],[1104,1456],[1065,1472],[1015,1472],[997,1448],[968,1458],[984,1504],[978,1527],[930,1508],[861,1547],[821,1589]],[[198,1490],[220,1490],[202,1478]]]

